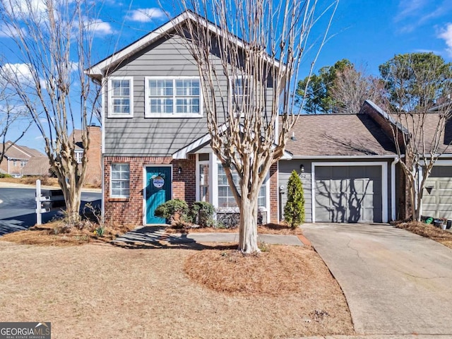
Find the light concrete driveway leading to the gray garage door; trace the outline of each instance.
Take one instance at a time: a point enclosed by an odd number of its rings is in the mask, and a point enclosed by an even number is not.
[[[342,287],[357,334],[452,338],[452,249],[389,225],[302,229]]]

